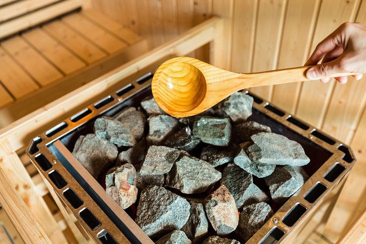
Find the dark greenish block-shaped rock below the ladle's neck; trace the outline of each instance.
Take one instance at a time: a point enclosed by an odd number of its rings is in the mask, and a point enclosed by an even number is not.
[[[193,125],[193,135],[208,144],[227,146],[231,138],[230,120],[228,118],[200,118]]]

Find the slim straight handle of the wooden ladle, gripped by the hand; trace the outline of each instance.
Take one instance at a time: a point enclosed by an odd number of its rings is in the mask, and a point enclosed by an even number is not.
[[[248,87],[257,86],[268,86],[285,84],[290,82],[298,81],[309,81],[305,74],[308,69],[314,67],[315,65],[301,66],[290,69],[283,70],[272,70],[266,72],[252,73],[250,76],[250,81],[246,83]],[[328,77],[340,77],[340,76],[350,76],[356,75],[355,73],[336,73]],[[244,77],[244,76],[243,76]],[[324,77],[325,78],[325,77]],[[249,84],[250,83],[250,84]]]

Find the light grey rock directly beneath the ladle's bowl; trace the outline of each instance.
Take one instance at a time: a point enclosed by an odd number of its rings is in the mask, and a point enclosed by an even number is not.
[[[179,126],[178,120],[169,115],[155,115],[147,120],[149,122],[149,134],[146,140],[153,145],[163,144]]]

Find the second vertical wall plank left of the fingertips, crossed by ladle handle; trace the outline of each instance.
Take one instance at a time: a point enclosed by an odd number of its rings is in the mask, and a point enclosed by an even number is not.
[[[274,70],[282,35],[287,0],[259,1],[252,72]],[[271,100],[273,86],[255,87],[251,91]]]

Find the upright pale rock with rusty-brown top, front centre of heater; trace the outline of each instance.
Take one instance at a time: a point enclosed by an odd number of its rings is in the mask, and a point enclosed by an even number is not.
[[[229,234],[238,226],[239,213],[235,199],[225,185],[221,185],[205,199],[207,217],[219,235]]]

